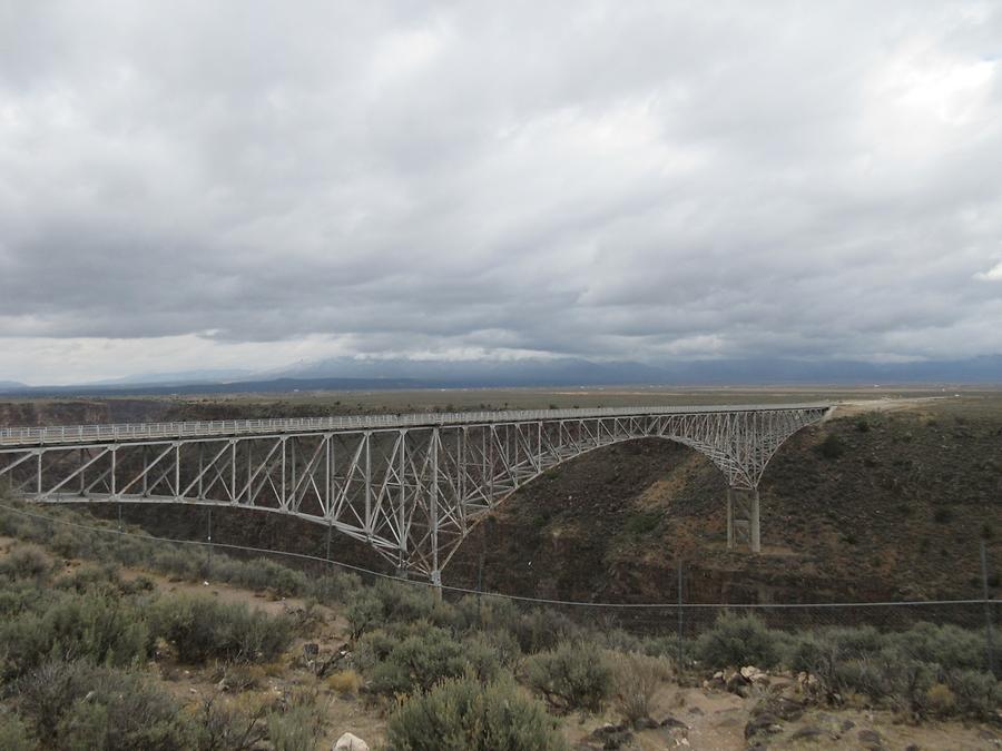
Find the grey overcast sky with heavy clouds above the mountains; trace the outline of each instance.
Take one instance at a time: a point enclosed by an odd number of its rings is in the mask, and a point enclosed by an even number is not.
[[[1002,353],[999,2],[0,0],[0,379]]]

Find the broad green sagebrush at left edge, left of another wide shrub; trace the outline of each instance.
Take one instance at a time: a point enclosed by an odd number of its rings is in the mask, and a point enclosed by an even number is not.
[[[63,594],[45,612],[22,612],[0,624],[0,666],[7,679],[50,658],[115,666],[144,661],[151,641],[139,611],[120,597]]]

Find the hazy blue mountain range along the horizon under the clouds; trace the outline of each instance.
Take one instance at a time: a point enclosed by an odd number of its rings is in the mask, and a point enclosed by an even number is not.
[[[920,383],[1000,384],[1002,355],[916,363],[815,362],[763,357],[659,364],[595,362],[578,357],[470,360],[337,357],[257,374],[244,370],[196,370],[138,375],[71,386],[31,387],[14,382],[0,382],[0,395],[121,396],[625,384],[711,386]]]

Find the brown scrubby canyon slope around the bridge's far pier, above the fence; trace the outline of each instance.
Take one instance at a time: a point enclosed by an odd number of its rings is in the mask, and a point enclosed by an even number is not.
[[[943,403],[797,434],[763,478],[759,556],[726,549],[725,497],[719,472],[682,446],[595,452],[514,494],[450,580],[664,601],[681,559],[697,602],[979,596],[982,537],[1002,566],[1002,409]]]

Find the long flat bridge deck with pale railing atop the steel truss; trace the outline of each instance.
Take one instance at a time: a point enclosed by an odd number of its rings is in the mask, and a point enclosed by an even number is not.
[[[587,419],[592,417],[648,417],[720,413],[764,413],[788,409],[831,408],[832,404],[752,404],[671,407],[597,407],[578,409],[504,409],[497,412],[451,412],[410,415],[357,415],[344,417],[291,417],[274,419],[215,419],[177,423],[117,423],[104,425],[57,425],[47,427],[0,427],[0,447],[19,448],[80,443],[117,443],[160,438],[204,438],[276,433],[326,433],[387,431],[441,425],[485,425],[540,419]]]

